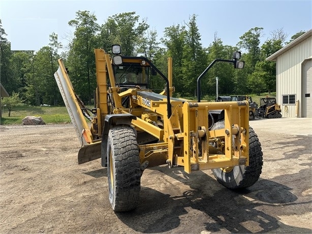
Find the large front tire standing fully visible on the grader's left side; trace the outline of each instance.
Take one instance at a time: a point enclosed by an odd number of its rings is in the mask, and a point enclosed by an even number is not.
[[[114,211],[130,211],[139,204],[141,171],[136,133],[130,126],[109,130],[107,142],[109,201]]]

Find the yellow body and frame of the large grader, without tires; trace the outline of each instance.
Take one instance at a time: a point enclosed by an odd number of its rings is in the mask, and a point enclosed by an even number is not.
[[[172,59],[168,59],[168,80],[170,97],[170,116],[168,116],[168,95],[153,93],[142,86],[131,86],[124,90],[114,75],[112,57],[103,49],[95,49],[96,54],[96,108],[92,110],[90,128],[80,113],[83,105],[74,94],[68,73],[62,60],[55,78],[69,90],[73,123],[82,148],[78,153],[78,163],[101,158],[101,143],[107,141],[103,135],[105,118],[108,115],[130,114],[131,126],[143,139],[138,139],[141,168],[168,164],[183,166],[191,173],[194,170],[213,168],[232,168],[237,165],[248,166],[248,102],[195,102],[172,98]],[[124,62],[140,64],[141,58],[124,58]],[[142,65],[143,64],[143,65]],[[143,74],[143,72],[142,72]],[[142,75],[144,76],[144,74]],[[127,99],[127,106],[123,104]],[[69,100],[67,100],[68,102]],[[69,105],[67,104],[68,108]],[[224,116],[224,127],[212,130],[211,113]],[[210,113],[211,112],[211,113]],[[109,127],[109,126],[108,126]],[[102,157],[103,160],[103,157]],[[102,165],[105,163],[102,162]]]

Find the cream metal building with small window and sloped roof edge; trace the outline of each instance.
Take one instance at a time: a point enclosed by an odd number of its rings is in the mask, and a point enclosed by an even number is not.
[[[312,118],[312,29],[266,60],[276,61],[276,100],[283,117]]]

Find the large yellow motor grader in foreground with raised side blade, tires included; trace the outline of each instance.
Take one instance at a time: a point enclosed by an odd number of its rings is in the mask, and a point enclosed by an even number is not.
[[[75,94],[61,59],[54,76],[82,144],[78,164],[101,158],[115,212],[138,206],[141,175],[153,166],[180,166],[187,173],[212,169],[230,189],[258,181],[262,150],[249,127],[248,102],[200,100],[201,78],[216,62],[243,68],[240,52],[233,60],[215,59],[198,77],[197,102],[172,97],[172,58],[167,78],[146,57],[123,56],[119,45],[112,46],[112,53],[95,49],[95,108],[86,108]],[[148,86],[156,73],[166,81],[160,94]]]

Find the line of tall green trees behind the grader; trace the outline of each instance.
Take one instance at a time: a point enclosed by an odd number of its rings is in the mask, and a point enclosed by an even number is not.
[[[164,37],[158,40],[158,33],[149,30],[146,19],[136,12],[118,13],[109,16],[102,24],[89,11],[77,11],[75,19],[69,25],[74,34],[69,40],[68,49],[58,54],[62,47],[57,43],[57,35],[51,33],[50,43],[39,51],[11,51],[10,42],[0,20],[0,76],[1,82],[11,94],[20,94],[20,98],[29,105],[63,104],[54,79],[59,57],[63,58],[74,86],[75,93],[85,104],[91,104],[93,90],[96,89],[94,49],[102,47],[111,52],[112,44],[120,44],[123,55],[143,55],[167,75],[167,58],[173,58],[173,86],[175,96],[196,100],[197,78],[215,58],[232,59],[233,51],[243,50],[244,69],[233,69],[232,64],[216,63],[201,79],[202,99],[214,100],[216,92],[215,77],[219,77],[219,94],[261,93],[275,91],[275,63],[266,61],[266,57],[282,48],[287,37],[283,28],[271,32],[271,39],[260,46],[262,27],[254,27],[244,33],[237,47],[224,45],[216,33],[213,42],[207,48],[201,43],[197,26],[197,16],[189,16],[188,21],[168,26]],[[304,31],[295,34],[291,41]],[[239,48],[238,48],[239,47]],[[153,76],[150,87],[160,93],[165,81],[160,75]],[[213,97],[213,98],[212,98]]]

